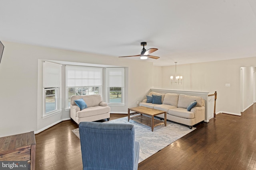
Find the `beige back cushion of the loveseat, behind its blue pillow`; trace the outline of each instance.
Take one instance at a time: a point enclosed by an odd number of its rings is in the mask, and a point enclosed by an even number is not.
[[[101,96],[98,95],[98,94],[95,94],[95,95],[89,95],[89,96],[72,96],[71,97],[71,104],[76,105],[74,100],[77,100],[77,99],[80,99],[80,98],[84,99],[84,102],[86,103],[86,105],[88,107],[99,106],[100,102],[102,102]]]

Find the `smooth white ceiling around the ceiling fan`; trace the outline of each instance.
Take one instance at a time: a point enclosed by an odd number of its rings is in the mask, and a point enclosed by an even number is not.
[[[114,57],[146,41],[156,66],[256,57],[256,0],[0,0],[0,40]]]

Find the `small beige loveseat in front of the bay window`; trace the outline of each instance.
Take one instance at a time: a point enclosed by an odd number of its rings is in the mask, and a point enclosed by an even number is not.
[[[88,106],[80,109],[74,100],[83,99]],[[110,118],[110,107],[107,103],[102,102],[100,95],[90,96],[72,96],[70,102],[70,117],[79,124],[82,121],[96,121]]]

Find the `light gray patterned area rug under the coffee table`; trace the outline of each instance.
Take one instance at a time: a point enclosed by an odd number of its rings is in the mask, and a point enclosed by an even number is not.
[[[152,132],[151,127],[137,123],[133,120],[128,122],[127,117],[108,121],[107,123],[131,123],[134,125],[135,141],[138,141],[140,144],[139,162],[142,162],[159,150],[167,147],[174,141],[196,129],[195,127],[189,129],[188,126],[174,123],[172,121],[167,121],[166,127],[164,125],[156,126]],[[80,139],[78,128],[72,130],[72,132]]]

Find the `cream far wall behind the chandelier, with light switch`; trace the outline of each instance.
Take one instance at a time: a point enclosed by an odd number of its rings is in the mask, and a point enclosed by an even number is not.
[[[183,76],[182,85],[170,84],[174,66],[162,67],[162,88],[175,90],[217,91],[216,113],[241,115],[240,67],[254,66],[256,57],[177,65],[177,75]],[[225,84],[229,83],[230,87]]]

